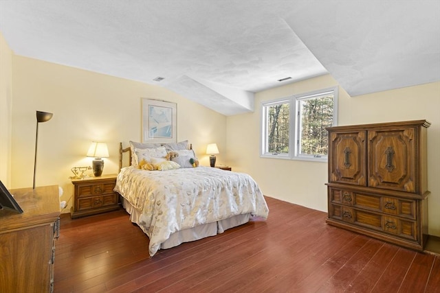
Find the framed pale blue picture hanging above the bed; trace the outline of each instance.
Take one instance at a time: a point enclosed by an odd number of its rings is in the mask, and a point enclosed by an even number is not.
[[[177,104],[142,98],[142,143],[177,142]]]

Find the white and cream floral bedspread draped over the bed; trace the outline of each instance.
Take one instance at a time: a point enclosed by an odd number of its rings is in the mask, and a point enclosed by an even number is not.
[[[213,167],[145,171],[122,168],[115,191],[139,211],[153,256],[172,233],[233,215],[267,218],[263,193],[248,174]]]

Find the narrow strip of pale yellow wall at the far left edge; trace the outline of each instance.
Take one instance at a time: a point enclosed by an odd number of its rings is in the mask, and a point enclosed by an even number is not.
[[[0,33],[0,180],[10,187],[12,51]]]

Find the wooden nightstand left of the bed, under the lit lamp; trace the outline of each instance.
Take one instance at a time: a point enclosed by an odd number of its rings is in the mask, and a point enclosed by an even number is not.
[[[84,179],[73,179],[74,205],[70,211],[72,219],[119,209],[119,195],[113,191],[116,174]]]

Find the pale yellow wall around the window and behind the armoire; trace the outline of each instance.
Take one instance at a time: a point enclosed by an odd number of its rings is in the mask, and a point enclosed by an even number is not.
[[[327,211],[327,163],[259,157],[261,102],[338,86],[331,75],[256,93],[254,113],[227,119],[228,163],[251,174],[263,193]],[[426,119],[428,128],[429,233],[440,236],[440,82],[350,97],[339,86],[338,124],[369,124]]]

